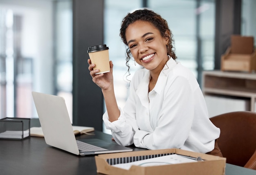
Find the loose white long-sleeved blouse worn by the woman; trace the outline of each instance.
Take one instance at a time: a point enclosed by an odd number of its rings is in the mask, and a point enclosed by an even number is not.
[[[118,144],[140,148],[180,148],[207,153],[220,129],[211,123],[204,96],[192,72],[172,58],[148,93],[150,72],[140,69],[130,82],[130,94],[117,121],[103,121]]]

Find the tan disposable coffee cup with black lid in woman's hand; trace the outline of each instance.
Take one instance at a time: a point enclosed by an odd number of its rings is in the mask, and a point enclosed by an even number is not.
[[[88,47],[87,53],[91,59],[92,64],[95,64],[93,70],[98,69],[96,74],[110,72],[109,54],[107,45],[96,45]]]

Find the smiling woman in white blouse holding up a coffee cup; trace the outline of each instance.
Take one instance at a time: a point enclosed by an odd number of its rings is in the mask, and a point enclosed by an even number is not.
[[[93,70],[95,65],[88,59],[92,81],[101,88],[106,102],[103,121],[115,141],[152,150],[180,148],[221,155],[215,141],[220,129],[209,120],[197,80],[175,61],[166,20],[148,9],[128,13],[120,36],[128,46],[126,61],[132,56],[144,67],[135,72],[123,109],[115,98],[112,61],[110,72],[95,75],[99,70]]]

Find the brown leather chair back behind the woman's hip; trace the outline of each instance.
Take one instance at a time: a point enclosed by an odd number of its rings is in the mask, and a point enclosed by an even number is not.
[[[256,170],[256,112],[229,112],[210,120],[220,128],[217,142],[227,163]]]

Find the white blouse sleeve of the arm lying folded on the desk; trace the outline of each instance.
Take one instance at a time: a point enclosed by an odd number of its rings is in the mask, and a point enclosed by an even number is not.
[[[166,87],[157,127],[152,133],[136,130],[135,146],[150,150],[181,148],[188,138],[194,114],[193,90],[188,80],[181,76]]]

